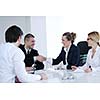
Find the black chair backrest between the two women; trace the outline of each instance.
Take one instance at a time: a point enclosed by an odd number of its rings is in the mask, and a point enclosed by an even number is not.
[[[80,49],[80,63],[79,66],[82,66],[86,63],[87,54],[91,47],[88,46],[87,41],[80,41],[77,43],[77,46]]]

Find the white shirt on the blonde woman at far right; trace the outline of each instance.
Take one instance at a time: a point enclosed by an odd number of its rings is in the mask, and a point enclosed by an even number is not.
[[[92,71],[100,71],[100,47],[99,46],[97,46],[93,58],[91,56],[92,56],[92,49],[89,50],[86,64],[82,66],[82,69],[91,66]]]

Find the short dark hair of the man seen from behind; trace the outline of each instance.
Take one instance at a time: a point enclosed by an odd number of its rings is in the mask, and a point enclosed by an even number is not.
[[[5,32],[5,40],[6,42],[16,42],[19,36],[23,35],[23,31],[16,25],[9,27]]]

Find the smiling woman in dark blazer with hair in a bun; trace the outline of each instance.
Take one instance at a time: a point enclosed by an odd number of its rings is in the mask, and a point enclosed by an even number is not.
[[[66,69],[72,69],[71,66],[78,66],[79,64],[79,49],[73,44],[76,38],[75,33],[66,32],[62,35],[62,50],[56,59],[52,60],[52,65],[57,65],[61,61],[66,65]]]

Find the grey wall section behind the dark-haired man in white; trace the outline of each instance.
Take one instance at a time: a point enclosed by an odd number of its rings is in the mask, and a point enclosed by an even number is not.
[[[29,29],[29,17],[28,16],[0,16],[0,43],[5,41],[5,30],[11,25],[18,25],[22,28],[24,33],[27,33]]]

